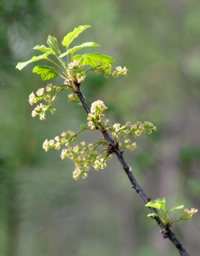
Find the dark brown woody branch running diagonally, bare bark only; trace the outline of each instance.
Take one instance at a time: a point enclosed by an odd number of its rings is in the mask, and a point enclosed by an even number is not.
[[[77,85],[76,86],[77,89],[77,96],[79,97],[81,104],[83,106],[83,108],[85,109],[85,111],[87,113],[90,113],[89,107],[85,101],[85,98],[83,97],[81,91],[80,91],[80,86]],[[109,136],[109,134],[107,133],[107,131],[102,131],[102,134],[104,136],[104,138],[112,143],[112,139]],[[150,197],[147,197],[144,193],[144,191],[142,190],[142,188],[139,186],[138,182],[136,181],[135,177],[132,175],[132,172],[129,170],[129,167],[122,155],[122,152],[119,149],[115,149],[114,153],[116,154],[116,156],[118,157],[121,165],[123,166],[123,169],[125,170],[126,175],[128,176],[129,180],[131,181],[132,184],[132,188],[134,188],[136,190],[136,192],[140,195],[140,197],[144,200],[144,202],[147,204],[149,201],[151,201]],[[158,213],[157,210],[155,208],[149,207],[150,212],[151,213]],[[169,238],[169,240],[175,245],[175,247],[177,248],[177,250],[180,252],[180,255],[182,256],[189,256],[189,254],[186,252],[186,250],[182,247],[182,244],[179,243],[179,241],[175,238],[174,233],[171,231],[171,229],[169,229],[168,227],[166,227],[162,221],[160,220],[160,218],[158,217],[152,217],[153,219],[155,219],[155,221],[157,222],[157,224],[159,225],[159,227],[162,230],[162,235],[163,238]]]

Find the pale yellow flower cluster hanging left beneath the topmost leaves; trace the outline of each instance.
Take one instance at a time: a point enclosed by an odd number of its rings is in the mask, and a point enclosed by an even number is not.
[[[54,104],[54,101],[56,100],[57,95],[63,89],[66,89],[64,85],[52,86],[52,84],[47,84],[47,87],[46,87],[47,93],[45,93],[44,88],[38,89],[36,92],[36,95],[32,92],[29,95],[29,103],[31,105],[33,105],[33,103],[37,103],[39,100],[42,100],[42,99],[48,103],[48,105],[43,105],[42,103],[40,103],[40,105],[37,105],[37,107],[35,107],[34,110],[32,111],[32,117],[39,115],[40,120],[45,120],[47,109],[50,109],[51,113],[54,114],[56,110],[55,108],[52,108],[52,105]],[[53,96],[53,94],[55,95]]]

